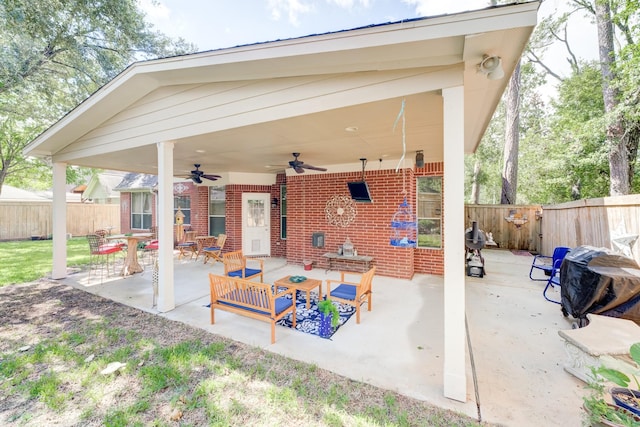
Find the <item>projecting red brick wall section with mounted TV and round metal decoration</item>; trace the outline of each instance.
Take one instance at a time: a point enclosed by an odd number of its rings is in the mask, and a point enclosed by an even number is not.
[[[347,227],[331,225],[325,216],[325,206],[335,195],[349,196],[347,182],[361,180],[361,172],[298,175],[287,179],[287,261],[326,268],[322,255],[335,252],[349,237],[359,255],[374,257],[377,274],[411,278],[414,274],[414,249],[390,245],[391,218],[407,190],[408,200],[415,199],[413,171],[379,170],[365,174],[373,203],[355,203],[357,214]],[[403,186],[404,183],[404,186]],[[412,203],[413,205],[413,203]],[[312,247],[314,232],[325,233],[325,247]]]

